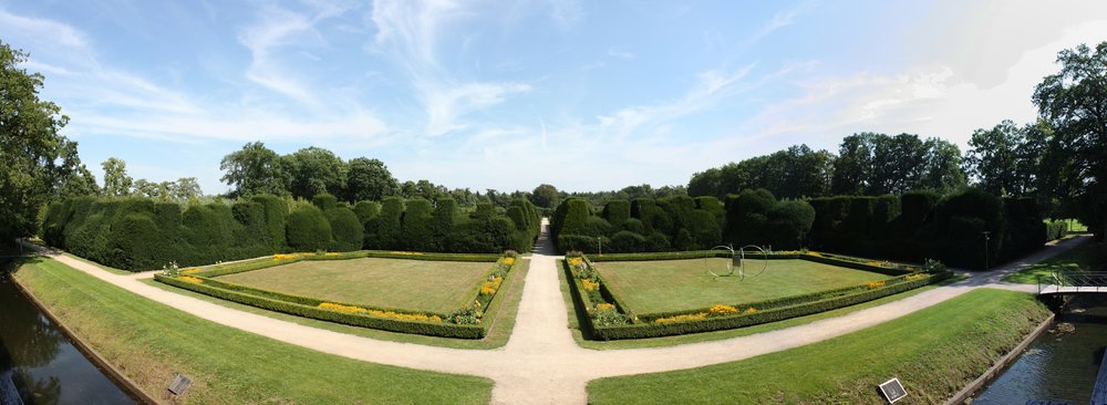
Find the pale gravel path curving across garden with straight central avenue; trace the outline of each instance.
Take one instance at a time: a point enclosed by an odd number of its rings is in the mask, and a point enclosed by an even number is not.
[[[162,290],[143,283],[139,279],[144,276],[113,274],[65,255],[49,256],[149,300],[278,341],[366,362],[488,377],[495,381],[493,403],[496,404],[583,404],[588,401],[586,385],[594,378],[692,368],[788,350],[870,328],[977,288],[1036,292],[1035,285],[999,280],[1087,239],[1065,240],[992,272],[970,274],[968,279],[950,285],[841,316],[725,340],[607,351],[582,349],[573,341],[558,278],[558,260],[561,257],[554,253],[545,237],[539,239],[535,253],[529,258],[530,270],[515,329],[507,344],[495,350],[381,341],[300,325]],[[144,274],[153,277],[149,272]]]

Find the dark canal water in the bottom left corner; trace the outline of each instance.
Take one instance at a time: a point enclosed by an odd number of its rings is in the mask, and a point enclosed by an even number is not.
[[[0,405],[134,404],[20,292],[0,259]]]

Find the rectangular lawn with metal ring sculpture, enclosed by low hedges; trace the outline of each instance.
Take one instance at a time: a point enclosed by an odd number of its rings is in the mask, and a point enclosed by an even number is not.
[[[725,270],[728,261],[721,258],[707,259],[706,264],[704,259],[604,261],[596,263],[596,268],[619,300],[639,314],[735,305],[890,278],[807,260],[769,260],[764,273],[745,279],[707,273],[707,267]],[[746,260],[747,273],[764,262]]]

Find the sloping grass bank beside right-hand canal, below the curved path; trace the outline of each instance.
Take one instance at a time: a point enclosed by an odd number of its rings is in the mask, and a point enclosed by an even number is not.
[[[898,377],[910,403],[941,403],[1049,311],[1032,294],[981,289],[824,342],[706,367],[601,378],[592,404],[881,404]]]

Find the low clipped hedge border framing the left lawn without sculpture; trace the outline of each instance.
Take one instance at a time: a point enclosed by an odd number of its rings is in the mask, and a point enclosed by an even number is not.
[[[362,252],[354,252],[354,253],[362,253]],[[396,258],[396,259],[411,259],[413,256],[415,256],[415,255],[395,255],[395,253],[389,253],[389,255],[390,255],[390,258]],[[346,256],[346,257],[342,257],[342,256]],[[420,256],[422,256],[422,255],[420,255]],[[431,255],[426,255],[426,256],[431,256]],[[296,258],[296,259],[280,260],[280,261],[273,261],[273,262],[268,262],[268,261],[267,262],[250,261],[250,262],[245,262],[245,263],[231,263],[231,264],[227,264],[227,266],[236,266],[236,264],[238,264],[240,268],[224,269],[224,272],[220,272],[218,276],[226,276],[226,274],[230,274],[230,273],[235,273],[235,272],[245,272],[245,271],[252,271],[252,270],[258,270],[258,269],[265,269],[265,268],[275,267],[275,266],[289,264],[289,263],[293,263],[293,262],[298,262],[298,261],[302,261],[302,260],[349,260],[349,259],[356,259],[356,258],[362,258],[362,257],[366,257],[366,256],[350,255],[350,253],[345,253],[345,255],[331,255],[331,256],[313,256],[313,255],[308,256],[308,255],[306,255],[303,257],[299,257],[299,258]],[[182,289],[185,289],[185,290],[189,290],[189,291],[203,293],[203,294],[210,295],[210,297],[214,297],[214,298],[218,298],[218,299],[223,299],[223,300],[227,300],[227,301],[231,301],[231,302],[237,302],[237,303],[241,303],[241,304],[247,304],[247,305],[251,305],[251,307],[256,307],[256,308],[261,308],[261,309],[266,309],[266,310],[271,310],[271,311],[277,311],[277,312],[283,312],[283,313],[288,313],[288,314],[292,314],[292,315],[299,315],[299,316],[304,316],[304,318],[321,320],[321,321],[343,323],[343,324],[349,324],[349,325],[354,325],[354,326],[370,328],[370,329],[384,330],[384,331],[391,331],[391,332],[400,332],[400,333],[413,333],[413,334],[422,334],[422,335],[428,335],[428,336],[456,338],[456,339],[474,339],[475,340],[475,339],[483,339],[488,333],[488,328],[490,328],[490,322],[485,323],[483,321],[484,320],[484,315],[490,314],[492,315],[490,318],[495,319],[495,316],[497,316],[499,314],[499,307],[501,307],[501,305],[497,305],[497,303],[501,300],[500,295],[503,295],[503,294],[500,294],[500,291],[505,290],[505,288],[504,288],[505,284],[508,284],[509,282],[514,282],[514,276],[515,276],[515,272],[516,272],[515,269],[521,262],[521,260],[518,258],[517,255],[515,255],[515,256],[496,256],[496,257],[499,258],[499,259],[510,257],[510,258],[514,258],[515,260],[513,261],[513,263],[510,264],[510,267],[508,267],[508,269],[506,270],[505,279],[504,279],[504,281],[500,284],[500,288],[496,290],[496,293],[488,301],[488,304],[485,305],[484,308],[482,308],[479,310],[479,313],[480,313],[480,316],[482,316],[482,323],[479,325],[456,324],[456,323],[445,323],[445,322],[441,322],[441,323],[439,322],[424,322],[424,321],[414,321],[414,320],[400,320],[400,319],[390,319],[390,318],[379,318],[379,316],[373,316],[373,315],[368,315],[368,314],[351,314],[351,313],[343,313],[343,312],[338,312],[338,311],[323,310],[323,309],[320,309],[318,305],[321,304],[321,303],[323,303],[323,302],[330,302],[330,303],[335,303],[335,304],[341,304],[341,305],[358,307],[358,308],[363,308],[363,309],[366,309],[366,310],[374,310],[374,311],[391,311],[391,312],[403,313],[403,314],[421,314],[421,315],[427,315],[427,316],[434,316],[434,315],[436,315],[436,316],[439,316],[439,318],[443,318],[443,319],[446,319],[446,318],[449,316],[448,314],[435,313],[435,312],[430,312],[430,311],[411,311],[411,310],[383,308],[383,307],[366,307],[366,305],[361,305],[361,304],[351,304],[351,303],[337,302],[337,301],[331,301],[331,300],[315,299],[315,298],[310,298],[310,297],[300,297],[300,295],[287,294],[287,293],[277,292],[277,291],[268,291],[268,290],[263,290],[263,289],[257,289],[257,288],[252,288],[252,287],[246,287],[246,285],[241,285],[241,284],[235,284],[235,283],[224,282],[224,281],[216,280],[216,279],[211,278],[214,276],[210,276],[210,277],[203,276],[206,272],[182,273],[182,274],[179,274],[179,276],[187,276],[187,277],[194,277],[194,278],[200,279],[201,280],[200,283],[189,282],[189,281],[180,280],[177,277],[170,277],[170,276],[165,276],[165,274],[155,274],[154,279],[156,281],[159,281],[159,282],[163,282],[163,283],[166,283],[166,284],[169,284],[169,285],[174,285],[174,287],[182,288]],[[497,268],[500,266],[500,260],[499,259],[497,259],[497,260],[494,261],[494,264],[489,268],[489,270],[488,270],[487,273],[490,274],[492,272],[494,272],[494,271],[497,270]],[[430,260],[442,261],[442,260],[445,260],[445,259],[443,259],[443,258],[439,257],[439,258],[430,259]],[[472,261],[476,261],[476,260],[472,260]],[[254,264],[254,266],[241,266],[241,264]],[[263,266],[258,266],[258,264],[263,264]],[[226,271],[226,270],[231,270],[231,271]],[[216,272],[216,271],[213,270],[213,271],[208,271],[208,272]],[[477,289],[477,293],[478,294],[479,294],[480,284],[483,284],[484,281],[485,281],[485,279],[482,278],[482,280],[477,284],[476,289]],[[474,301],[477,298],[474,298]],[[495,311],[485,311],[486,309],[490,310],[493,308],[495,308]]]

